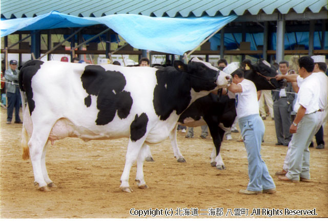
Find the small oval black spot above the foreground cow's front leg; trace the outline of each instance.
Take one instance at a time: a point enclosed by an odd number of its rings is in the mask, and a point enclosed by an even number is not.
[[[135,115],[134,120],[130,125],[130,138],[135,142],[145,136],[147,131],[148,116],[142,113],[140,116]]]

